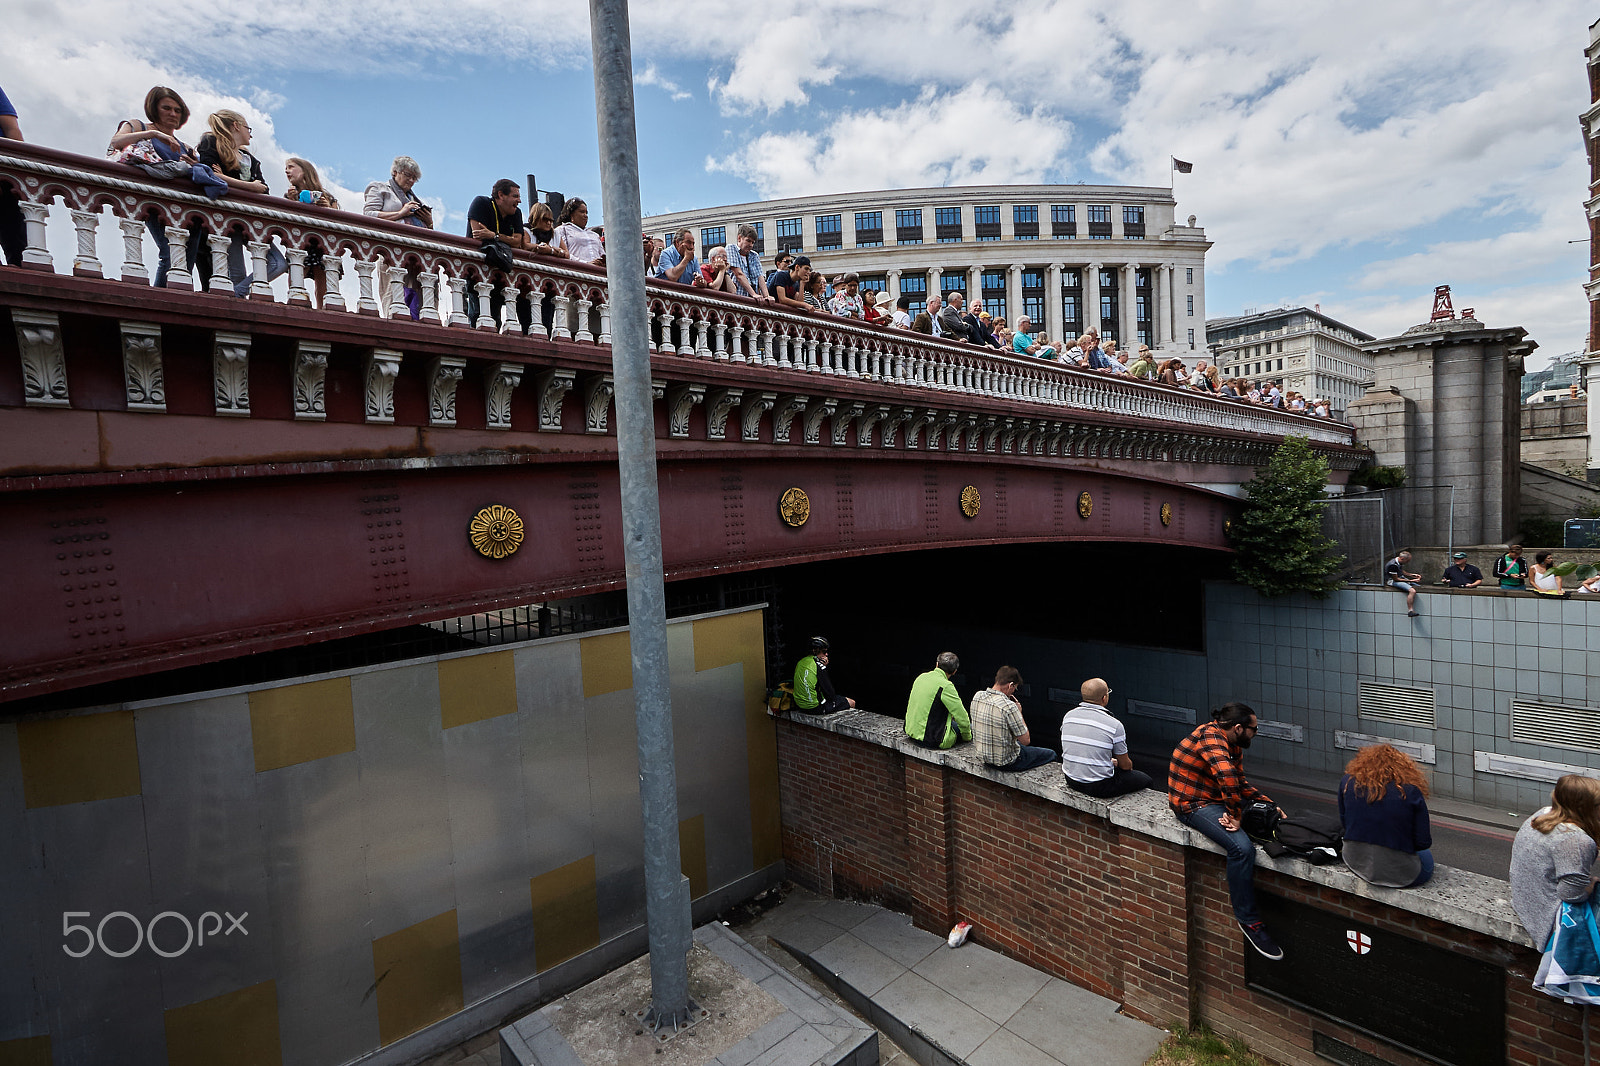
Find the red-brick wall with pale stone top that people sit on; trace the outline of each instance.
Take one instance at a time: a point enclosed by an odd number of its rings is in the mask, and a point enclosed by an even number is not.
[[[1278,1063],[1325,1061],[1312,1052],[1320,1032],[1394,1066],[1424,1066],[1246,988],[1222,856],[1210,842],[1186,844],[1160,797],[1107,807],[1067,792],[1048,768],[994,775],[960,752],[910,747],[891,719],[840,719],[854,723],[778,723],[784,858],[802,884],[906,911],[938,933],[968,919],[974,941],[1117,999],[1130,1015],[1203,1021]],[[1440,871],[1435,880],[1451,885],[1440,896],[1475,888],[1490,900],[1482,916],[1445,920],[1422,912],[1426,890],[1397,896],[1413,906],[1403,909],[1326,884],[1341,877],[1355,884],[1344,871],[1264,860],[1256,884],[1502,967],[1507,1064],[1584,1061],[1581,1010],[1531,989],[1538,954],[1493,898],[1509,895],[1502,882]]]

